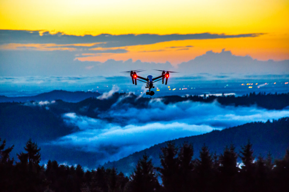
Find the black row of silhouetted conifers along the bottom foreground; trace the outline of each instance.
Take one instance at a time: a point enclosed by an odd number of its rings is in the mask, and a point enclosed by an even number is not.
[[[1,141],[1,140],[0,140]],[[114,168],[86,171],[80,165],[59,165],[48,161],[40,166],[40,148],[31,139],[18,160],[9,158],[12,147],[0,145],[0,191],[288,191],[289,151],[282,160],[272,161],[253,156],[250,141],[238,154],[235,147],[226,147],[223,154],[211,154],[203,145],[199,159],[192,159],[192,145],[177,148],[171,142],[161,149],[161,167],[154,168],[144,155],[135,171],[127,178]],[[242,163],[238,163],[238,157]],[[162,180],[161,184],[158,177]]]

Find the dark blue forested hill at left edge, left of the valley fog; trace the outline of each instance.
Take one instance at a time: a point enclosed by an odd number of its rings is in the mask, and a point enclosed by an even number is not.
[[[15,146],[15,153],[23,149],[29,138],[47,142],[78,130],[65,124],[62,117],[47,106],[28,104],[0,103],[0,137]]]

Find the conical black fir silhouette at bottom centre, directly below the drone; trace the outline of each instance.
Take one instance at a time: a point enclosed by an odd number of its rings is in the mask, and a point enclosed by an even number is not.
[[[150,192],[160,189],[156,173],[153,170],[151,159],[143,155],[138,161],[136,170],[130,176],[129,191]]]

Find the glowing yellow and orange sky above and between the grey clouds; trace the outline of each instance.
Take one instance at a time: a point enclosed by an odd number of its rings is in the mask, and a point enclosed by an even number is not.
[[[83,61],[103,62],[108,59],[132,58],[148,62],[169,61],[177,64],[191,60],[209,50],[221,52],[223,48],[231,50],[235,55],[250,55],[258,60],[289,59],[288,0],[204,0],[202,2],[1,0],[0,10],[0,29],[44,30],[70,35],[266,33],[260,37],[168,41],[117,47],[125,48],[128,52],[78,58]],[[188,45],[193,47],[167,48]],[[0,49],[11,49],[13,46],[1,45]],[[46,45],[35,45],[35,47],[42,51],[49,50],[45,48]]]

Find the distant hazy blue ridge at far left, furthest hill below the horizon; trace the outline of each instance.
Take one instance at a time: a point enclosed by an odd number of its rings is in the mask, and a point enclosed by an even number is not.
[[[48,93],[42,93],[36,96],[27,97],[6,97],[0,96],[0,102],[27,102],[27,101],[52,101],[61,99],[66,102],[79,102],[86,98],[98,97],[100,94],[97,92],[84,92],[84,91],[64,91],[54,90]]]

